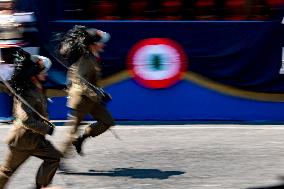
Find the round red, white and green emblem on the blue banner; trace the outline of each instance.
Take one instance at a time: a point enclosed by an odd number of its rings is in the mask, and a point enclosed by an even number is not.
[[[128,70],[147,88],[174,85],[186,71],[187,58],[182,47],[168,38],[149,38],[135,44],[128,54]]]

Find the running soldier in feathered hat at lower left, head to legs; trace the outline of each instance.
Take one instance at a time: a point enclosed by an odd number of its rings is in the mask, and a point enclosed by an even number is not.
[[[27,104],[47,117],[47,102],[42,92],[42,83],[47,77],[51,62],[45,57],[29,56],[21,49],[17,55],[22,64],[16,64],[11,86]],[[7,139],[8,152],[0,166],[0,189],[5,187],[17,168],[30,156],[43,160],[36,175],[36,189],[46,187],[59,166],[61,153],[45,138],[46,134],[52,135],[53,124],[43,120],[27,104],[15,95],[15,120]]]

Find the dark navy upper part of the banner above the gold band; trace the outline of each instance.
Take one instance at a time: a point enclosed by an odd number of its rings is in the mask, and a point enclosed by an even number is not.
[[[249,91],[284,92],[281,68],[284,28],[280,22],[228,21],[57,21],[54,32],[75,24],[111,33],[103,53],[104,77],[126,69],[129,50],[148,38],[169,38],[179,43],[188,57],[188,70],[214,81]],[[58,78],[51,79],[61,84]]]

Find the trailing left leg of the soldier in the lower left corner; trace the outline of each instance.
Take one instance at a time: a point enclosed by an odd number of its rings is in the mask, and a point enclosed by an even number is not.
[[[3,189],[9,178],[17,168],[28,159],[30,152],[17,150],[13,147],[8,148],[5,160],[0,167],[0,189]]]

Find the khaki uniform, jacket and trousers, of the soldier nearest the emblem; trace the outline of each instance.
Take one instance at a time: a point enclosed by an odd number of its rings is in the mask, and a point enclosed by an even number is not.
[[[78,127],[87,114],[90,114],[97,122],[86,127],[83,135],[75,142],[79,140],[81,143],[87,137],[98,136],[115,124],[111,113],[107,110],[105,104],[102,103],[101,97],[90,86],[90,84],[98,85],[100,71],[100,60],[91,53],[84,54],[69,68],[68,80],[70,84],[67,106],[71,108],[70,120],[72,121],[72,129],[67,146],[70,146],[72,141],[74,144],[74,137],[77,135]],[[64,153],[67,152],[67,146],[63,150]]]

